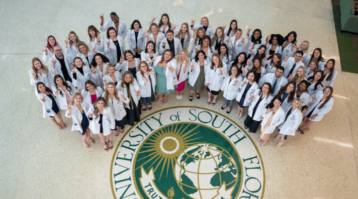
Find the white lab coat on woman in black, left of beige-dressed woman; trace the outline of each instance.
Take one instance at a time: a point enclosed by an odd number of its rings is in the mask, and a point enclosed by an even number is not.
[[[271,100],[273,99],[273,96],[271,94],[268,94],[265,96],[264,99],[262,99],[256,109],[255,114],[253,115],[254,112],[254,108],[257,104],[257,102],[260,100],[261,96],[263,95],[262,93],[259,95],[261,89],[257,89],[254,93],[254,99],[250,100],[249,98],[249,109],[248,109],[248,115],[255,121],[261,121],[262,119],[260,118],[262,115],[262,112],[265,110],[267,110],[266,106],[269,104],[269,102],[271,102]]]

